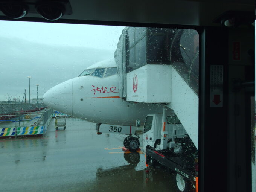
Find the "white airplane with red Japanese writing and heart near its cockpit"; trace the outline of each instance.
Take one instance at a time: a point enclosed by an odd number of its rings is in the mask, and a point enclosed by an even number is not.
[[[116,125],[107,125],[107,129],[129,134],[124,140],[124,146],[130,149],[138,149],[140,145],[139,136],[135,134],[136,120],[143,124],[149,111],[162,112],[161,104],[135,104],[119,96],[119,80],[114,58],[97,62],[78,77],[50,88],[44,94],[43,101],[54,110],[96,123],[97,134],[101,134],[99,126],[103,123]],[[137,137],[131,136],[132,134]]]

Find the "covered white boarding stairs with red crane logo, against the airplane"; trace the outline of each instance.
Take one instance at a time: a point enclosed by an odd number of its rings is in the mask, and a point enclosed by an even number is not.
[[[198,39],[191,29],[126,27],[115,52],[120,97],[174,110],[197,149]]]

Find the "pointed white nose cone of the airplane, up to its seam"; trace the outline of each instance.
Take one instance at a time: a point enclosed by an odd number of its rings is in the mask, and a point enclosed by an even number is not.
[[[65,81],[44,93],[43,101],[46,106],[61,113],[73,115],[73,82]]]

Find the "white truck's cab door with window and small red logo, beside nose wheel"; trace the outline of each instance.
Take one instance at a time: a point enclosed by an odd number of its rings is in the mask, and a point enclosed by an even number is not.
[[[143,151],[146,152],[146,146],[154,147],[154,116],[147,116],[143,127]]]

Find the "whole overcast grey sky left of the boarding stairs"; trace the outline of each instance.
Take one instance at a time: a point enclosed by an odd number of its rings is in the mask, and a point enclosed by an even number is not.
[[[0,100],[30,98],[114,57],[124,27],[0,21]]]

